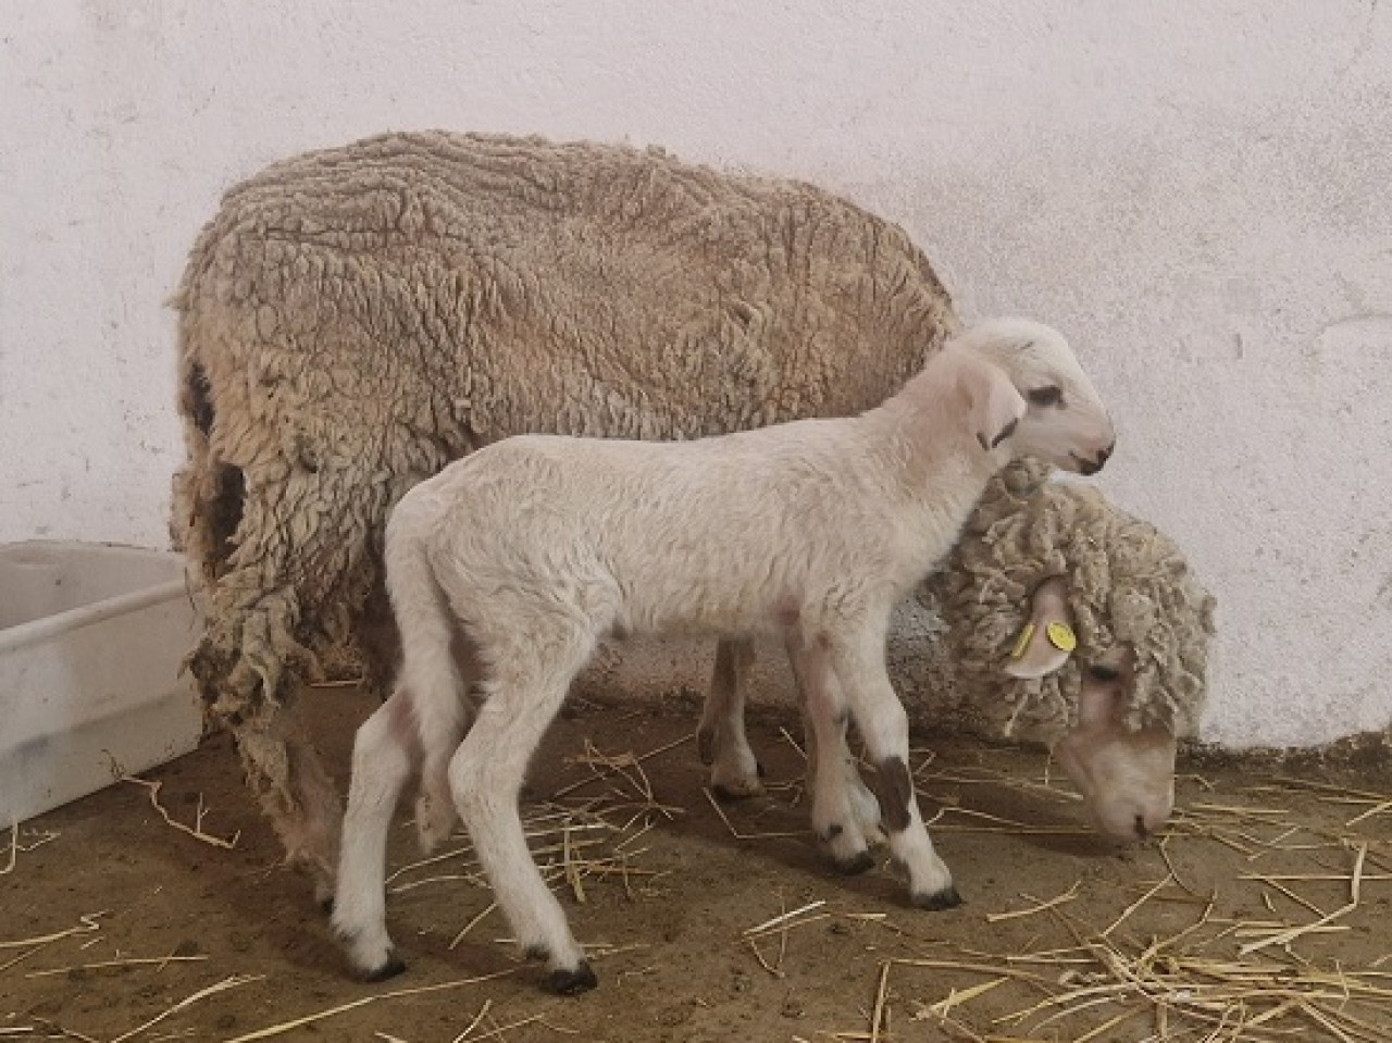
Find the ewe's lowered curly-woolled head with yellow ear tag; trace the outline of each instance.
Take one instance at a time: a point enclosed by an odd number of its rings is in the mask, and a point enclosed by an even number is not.
[[[1047,744],[1098,829],[1133,840],[1171,810],[1214,602],[1164,533],[1048,471],[992,480],[930,590],[967,705]]]

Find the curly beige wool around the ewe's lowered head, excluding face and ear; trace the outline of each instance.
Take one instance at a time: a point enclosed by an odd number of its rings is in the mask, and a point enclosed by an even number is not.
[[[1051,742],[1077,720],[1082,671],[1116,642],[1136,650],[1132,728],[1193,735],[1203,710],[1214,599],[1175,543],[1112,507],[1097,489],[1051,482],[1018,461],[997,475],[927,596],[947,625],[938,660],[956,698],[990,734]],[[1058,673],[1016,681],[1001,673],[1027,620],[1029,595],[1068,577],[1077,652]]]

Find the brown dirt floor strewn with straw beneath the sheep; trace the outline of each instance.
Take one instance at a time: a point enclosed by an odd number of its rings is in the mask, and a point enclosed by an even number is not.
[[[315,702],[341,776],[369,705]],[[916,776],[966,904],[920,912],[888,866],[823,861],[792,721],[756,720],[768,794],[722,808],[695,721],[689,699],[582,703],[533,767],[532,844],[596,991],[543,994],[466,838],[420,863],[405,813],[388,916],[409,969],[351,980],[213,738],[146,778],[231,848],[129,781],[0,847],[0,1042],[1392,1040],[1385,773],[1185,764],[1168,836],[1119,854],[1043,755],[934,742]]]

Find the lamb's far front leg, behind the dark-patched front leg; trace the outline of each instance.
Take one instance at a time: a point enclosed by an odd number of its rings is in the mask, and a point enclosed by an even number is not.
[[[812,827],[842,873],[863,873],[874,866],[874,856],[867,849],[846,780],[846,773],[856,769],[846,748],[845,700],[832,682],[827,650],[820,642],[807,642],[792,632],[785,643],[802,696]]]

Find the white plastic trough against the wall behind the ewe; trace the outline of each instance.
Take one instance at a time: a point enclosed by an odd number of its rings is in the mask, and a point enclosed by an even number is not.
[[[177,554],[0,544],[0,829],[198,745],[198,622]]]

